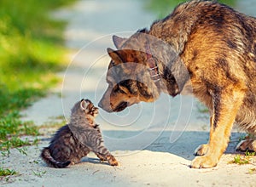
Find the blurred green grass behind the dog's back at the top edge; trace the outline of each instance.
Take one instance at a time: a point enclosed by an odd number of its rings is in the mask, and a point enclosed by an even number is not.
[[[167,14],[170,14],[179,3],[186,2],[185,0],[148,0],[146,2],[146,8],[154,11],[159,15],[159,18],[166,17]],[[219,3],[225,3],[230,6],[236,5],[236,0],[219,0]]]

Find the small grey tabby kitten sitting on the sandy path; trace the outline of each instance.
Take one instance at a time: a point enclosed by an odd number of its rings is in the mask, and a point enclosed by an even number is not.
[[[42,150],[41,157],[50,167],[67,167],[78,163],[82,157],[93,151],[101,161],[111,166],[119,163],[103,145],[102,133],[94,119],[98,114],[89,99],[82,99],[73,106],[70,123],[61,127],[49,147]]]

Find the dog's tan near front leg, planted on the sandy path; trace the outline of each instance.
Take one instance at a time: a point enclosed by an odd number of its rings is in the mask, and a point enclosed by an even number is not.
[[[229,139],[230,131],[244,99],[241,87],[230,86],[212,93],[212,119],[208,144],[201,146],[203,156],[196,156],[191,163],[193,168],[215,167],[223,155]],[[197,154],[200,155],[200,154]]]

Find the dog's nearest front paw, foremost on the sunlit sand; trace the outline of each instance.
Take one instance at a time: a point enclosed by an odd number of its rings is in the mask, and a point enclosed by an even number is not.
[[[191,162],[191,168],[211,168],[216,167],[218,164],[217,159],[212,159],[211,156],[196,156]]]

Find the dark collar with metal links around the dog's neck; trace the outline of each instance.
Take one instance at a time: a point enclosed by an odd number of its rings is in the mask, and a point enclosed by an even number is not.
[[[156,59],[151,54],[149,44],[146,46],[146,54],[147,54],[147,64],[149,66],[148,71],[149,71],[150,77],[154,82],[159,82],[160,81],[159,67],[156,63]]]

